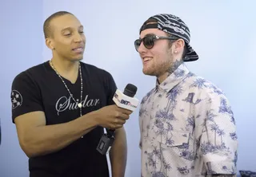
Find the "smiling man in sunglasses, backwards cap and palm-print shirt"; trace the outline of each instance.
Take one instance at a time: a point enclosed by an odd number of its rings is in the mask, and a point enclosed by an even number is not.
[[[157,77],[139,112],[143,177],[235,176],[233,112],[220,88],[196,76],[190,30],[172,14],[150,17],[134,41],[143,73]]]

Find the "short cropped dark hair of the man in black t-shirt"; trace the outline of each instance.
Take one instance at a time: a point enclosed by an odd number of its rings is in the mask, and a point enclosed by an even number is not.
[[[43,33],[44,33],[45,38],[52,37],[52,29],[50,28],[50,22],[54,18],[58,18],[62,15],[66,15],[66,14],[71,14],[71,13],[67,12],[67,11],[58,11],[54,14],[51,14],[49,18],[46,18],[46,21],[43,23]],[[74,14],[71,14],[71,15],[74,15]]]

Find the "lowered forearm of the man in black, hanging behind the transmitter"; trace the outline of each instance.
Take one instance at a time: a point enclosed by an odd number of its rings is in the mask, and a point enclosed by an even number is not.
[[[110,150],[112,177],[124,177],[126,172],[127,144],[124,128],[115,132],[114,144]]]

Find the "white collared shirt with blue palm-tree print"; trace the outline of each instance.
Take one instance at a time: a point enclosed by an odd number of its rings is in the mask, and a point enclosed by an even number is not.
[[[139,111],[143,177],[235,174],[237,136],[220,88],[182,64],[143,97]]]

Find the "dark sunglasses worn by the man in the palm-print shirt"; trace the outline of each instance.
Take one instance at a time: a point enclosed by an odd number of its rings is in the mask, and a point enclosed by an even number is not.
[[[134,41],[135,49],[138,52],[138,47],[143,43],[146,49],[152,49],[154,47],[154,42],[159,39],[168,39],[168,40],[178,40],[178,37],[158,37],[156,35],[149,35],[143,37],[142,39],[137,39]]]

